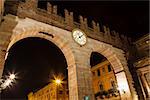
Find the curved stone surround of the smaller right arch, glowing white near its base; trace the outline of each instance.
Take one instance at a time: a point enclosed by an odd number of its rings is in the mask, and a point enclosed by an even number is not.
[[[98,52],[110,62],[114,69],[114,73],[117,79],[118,89],[121,94],[121,98],[136,100],[137,95],[133,87],[132,76],[129,72],[127,61],[125,58],[124,51],[118,48],[113,47],[112,45],[105,43],[96,43],[92,45],[92,52]]]

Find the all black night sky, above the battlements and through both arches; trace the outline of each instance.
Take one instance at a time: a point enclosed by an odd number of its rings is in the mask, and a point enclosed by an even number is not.
[[[48,0],[47,0],[48,1]],[[67,8],[74,12],[75,20],[81,14],[109,26],[121,34],[137,39],[149,32],[148,2],[51,2],[58,5],[58,13],[62,16]],[[45,8],[45,2],[39,2]],[[91,65],[102,60],[99,55],[93,58]],[[12,98],[25,99],[31,91],[48,84],[52,74],[63,73],[67,78],[67,64],[64,55],[53,43],[40,38],[27,38],[17,42],[9,51],[3,75],[8,72],[17,73],[17,82],[2,93],[5,100]],[[20,100],[19,99],[19,100]],[[15,99],[16,100],[16,99]]]

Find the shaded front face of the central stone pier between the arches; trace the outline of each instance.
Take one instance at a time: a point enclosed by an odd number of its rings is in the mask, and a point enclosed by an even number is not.
[[[77,65],[77,85],[78,100],[83,100],[85,96],[88,96],[90,100],[94,100],[90,67],[80,64]]]

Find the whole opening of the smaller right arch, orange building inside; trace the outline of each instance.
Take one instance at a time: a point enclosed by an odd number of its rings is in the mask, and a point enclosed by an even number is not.
[[[107,58],[98,52],[92,52],[90,65],[95,99],[120,99],[114,69]]]

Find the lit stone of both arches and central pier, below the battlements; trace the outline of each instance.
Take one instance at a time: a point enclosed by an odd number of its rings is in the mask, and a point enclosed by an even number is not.
[[[83,47],[79,46],[72,39],[71,32],[64,29],[44,24],[29,18],[19,19],[7,16],[3,22],[0,31],[7,33],[11,38],[5,40],[9,45],[5,45],[2,53],[0,51],[0,74],[3,71],[3,63],[5,62],[5,53],[17,41],[27,37],[40,37],[54,43],[63,52],[68,64],[68,81],[69,81],[69,99],[82,100],[85,96],[94,100],[92,89],[92,73],[90,70],[90,55],[92,52],[98,52],[108,59],[111,63],[117,78],[118,86],[126,90],[126,94],[122,91],[123,99],[135,100],[136,92],[132,85],[132,77],[128,70],[127,61],[124,52],[112,45],[100,42],[88,37],[87,44]],[[12,17],[12,18],[11,18]],[[12,23],[13,27],[9,28],[8,23]],[[16,25],[16,22],[18,24]],[[4,28],[5,27],[5,28]],[[0,48],[1,49],[1,48]],[[7,55],[6,55],[7,56]],[[124,88],[126,87],[126,88]]]

